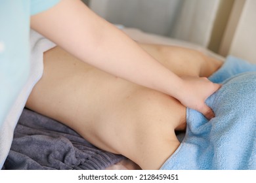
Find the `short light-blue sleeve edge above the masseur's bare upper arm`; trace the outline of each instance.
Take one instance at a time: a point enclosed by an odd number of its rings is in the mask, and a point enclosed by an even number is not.
[[[34,15],[39,12],[48,10],[49,8],[56,5],[60,0],[30,0],[30,14]]]

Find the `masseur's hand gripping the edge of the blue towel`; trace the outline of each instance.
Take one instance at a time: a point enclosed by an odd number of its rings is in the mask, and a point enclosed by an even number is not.
[[[184,88],[180,93],[179,101],[189,108],[198,110],[208,120],[215,116],[213,110],[205,104],[205,100],[211,94],[221,88],[221,84],[215,84],[207,78],[200,78],[194,76],[182,77]]]

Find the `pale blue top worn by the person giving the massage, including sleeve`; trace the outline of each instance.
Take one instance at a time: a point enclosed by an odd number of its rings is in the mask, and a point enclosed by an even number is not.
[[[0,0],[0,127],[30,74],[30,16],[60,0]]]

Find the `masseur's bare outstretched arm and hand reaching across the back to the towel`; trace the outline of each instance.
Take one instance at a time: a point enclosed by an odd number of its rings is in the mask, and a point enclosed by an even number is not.
[[[31,27],[75,57],[112,75],[171,95],[213,117],[205,99],[219,89],[204,78],[179,78],[79,0],[32,16]]]

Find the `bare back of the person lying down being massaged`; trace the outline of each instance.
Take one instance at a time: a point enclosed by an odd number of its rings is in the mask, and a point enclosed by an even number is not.
[[[207,77],[222,65],[186,48],[139,46],[178,76]],[[100,71],[59,47],[45,52],[43,77],[26,107],[142,169],[160,169],[179,147],[175,130],[186,127],[186,107],[177,99]]]

